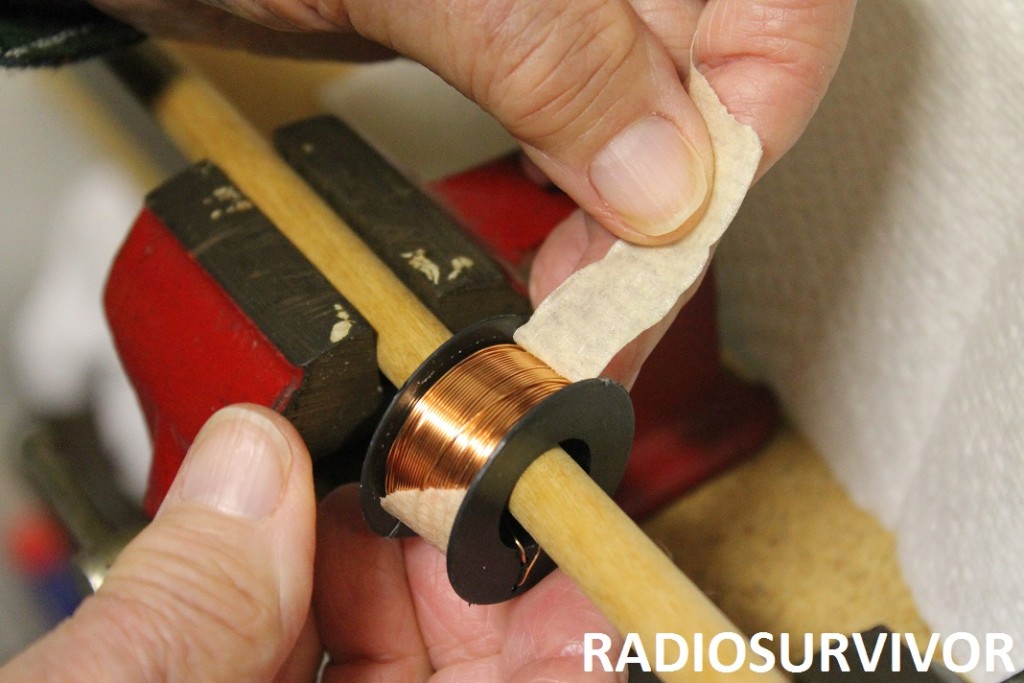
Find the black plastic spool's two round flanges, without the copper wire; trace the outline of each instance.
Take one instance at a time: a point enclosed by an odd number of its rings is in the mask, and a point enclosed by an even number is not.
[[[388,455],[424,395],[481,349],[511,344],[512,333],[521,324],[518,316],[503,316],[461,332],[431,354],[394,397],[362,469],[362,509],[375,532],[389,538],[413,533],[381,506],[381,500],[387,494]],[[447,573],[456,593],[473,604],[502,602],[555,567],[508,511],[516,482],[540,455],[561,445],[610,495],[622,479],[632,441],[629,394],[609,380],[566,383],[529,408],[476,469],[455,517]]]

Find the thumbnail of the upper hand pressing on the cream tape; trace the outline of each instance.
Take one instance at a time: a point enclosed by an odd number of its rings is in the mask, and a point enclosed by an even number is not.
[[[650,237],[681,226],[702,205],[708,177],[671,121],[648,116],[618,133],[590,166],[590,181],[631,227]]]

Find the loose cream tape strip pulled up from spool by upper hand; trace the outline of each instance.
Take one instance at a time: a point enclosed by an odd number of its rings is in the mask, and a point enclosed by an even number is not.
[[[692,70],[690,96],[715,152],[708,210],[681,242],[639,247],[618,241],[545,299],[515,341],[573,382],[597,377],[640,333],[664,318],[697,281],[736,215],[761,160],[754,129],[737,122],[708,80]]]

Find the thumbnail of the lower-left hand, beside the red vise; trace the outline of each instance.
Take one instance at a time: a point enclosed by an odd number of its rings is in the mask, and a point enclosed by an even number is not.
[[[244,408],[216,413],[200,430],[183,469],[182,500],[249,519],[278,508],[292,450],[272,422]]]

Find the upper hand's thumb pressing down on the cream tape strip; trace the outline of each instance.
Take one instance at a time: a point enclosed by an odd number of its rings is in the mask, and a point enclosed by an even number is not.
[[[702,212],[707,130],[671,56],[625,0],[319,6],[481,104],[616,234],[668,242]]]

